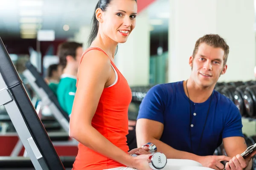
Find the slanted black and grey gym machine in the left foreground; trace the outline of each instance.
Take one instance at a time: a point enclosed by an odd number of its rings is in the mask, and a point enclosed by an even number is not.
[[[74,159],[71,158],[70,161],[68,158],[61,159],[58,156],[1,38],[0,61],[0,105],[6,108],[29,156],[29,158],[0,157],[1,168],[24,167],[28,170],[34,167],[35,170],[65,170],[66,167],[71,169]]]

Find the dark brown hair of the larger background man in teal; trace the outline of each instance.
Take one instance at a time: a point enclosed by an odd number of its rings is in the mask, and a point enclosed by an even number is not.
[[[67,65],[66,57],[70,55],[76,58],[76,49],[82,46],[83,45],[78,42],[63,42],[58,45],[57,55],[59,57],[59,64],[65,68]]]

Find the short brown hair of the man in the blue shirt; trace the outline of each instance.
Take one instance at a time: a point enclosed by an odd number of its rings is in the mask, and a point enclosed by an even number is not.
[[[227,57],[229,54],[229,46],[227,45],[226,41],[220,37],[218,34],[206,34],[203,37],[199,38],[195,43],[195,48],[193,51],[193,58],[198,51],[198,47],[201,43],[206,43],[214,48],[222,48],[224,50],[224,64],[227,63]]]

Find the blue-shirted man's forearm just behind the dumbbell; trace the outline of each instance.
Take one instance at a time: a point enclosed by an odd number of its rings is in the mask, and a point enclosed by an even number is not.
[[[155,144],[157,147],[157,151],[164,153],[167,159],[190,159],[198,161],[200,157],[193,153],[176,150],[173,147],[170,147],[168,144],[165,144],[164,142],[161,142],[160,140],[157,139],[150,139],[149,142]]]

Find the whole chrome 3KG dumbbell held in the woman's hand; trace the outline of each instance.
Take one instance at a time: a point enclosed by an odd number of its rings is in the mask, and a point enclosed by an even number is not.
[[[166,166],[167,158],[163,153],[157,152],[156,145],[152,143],[146,143],[142,147],[148,147],[149,152],[152,153],[148,158],[149,166],[153,170],[160,170]],[[138,156],[137,154],[132,154],[131,156]]]

